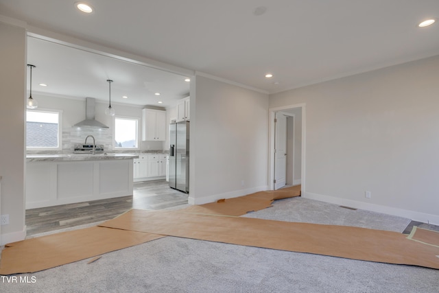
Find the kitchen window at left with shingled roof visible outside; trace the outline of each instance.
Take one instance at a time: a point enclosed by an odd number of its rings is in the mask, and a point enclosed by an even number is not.
[[[26,111],[27,150],[61,150],[61,112]]]

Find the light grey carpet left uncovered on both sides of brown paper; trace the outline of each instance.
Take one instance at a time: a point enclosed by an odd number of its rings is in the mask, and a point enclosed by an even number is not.
[[[274,202],[274,207],[250,215],[264,218],[269,211],[283,217],[281,210],[291,198]],[[300,201],[300,204],[332,204]],[[316,206],[314,206],[316,207]],[[305,209],[302,206],[302,209]],[[306,208],[309,213],[311,209]],[[342,209],[342,208],[337,208]],[[307,215],[317,222],[322,209]],[[286,211],[285,211],[286,212]],[[355,219],[355,213],[348,212]],[[358,212],[358,211],[352,211]],[[363,213],[364,211],[361,211]],[[261,217],[259,217],[261,213]],[[293,212],[292,212],[293,213]],[[366,212],[368,213],[368,212]],[[403,231],[408,219],[374,222],[369,213],[365,228]],[[305,215],[301,215],[305,220]],[[387,215],[383,215],[386,218]],[[323,222],[335,224],[340,215],[322,214]],[[273,218],[273,220],[292,220]],[[353,222],[355,222],[353,220]],[[383,224],[378,224],[378,223]],[[29,260],[32,261],[32,260]],[[415,266],[356,261],[337,257],[291,253],[281,250],[237,246],[195,239],[165,237],[139,246],[102,255],[65,266],[21,274],[36,283],[1,283],[2,292],[438,292],[439,271]],[[4,290],[4,291],[3,291]]]

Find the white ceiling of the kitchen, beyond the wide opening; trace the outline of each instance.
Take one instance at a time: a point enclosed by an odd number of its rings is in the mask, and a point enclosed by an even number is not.
[[[112,104],[164,108],[175,106],[177,99],[189,95],[190,84],[185,82],[186,76],[40,38],[27,38],[27,62],[36,66],[32,69],[33,94],[94,97],[108,102],[111,86]],[[111,85],[107,80],[112,80]],[[40,83],[47,86],[40,86]],[[28,88],[29,85],[28,80]]]

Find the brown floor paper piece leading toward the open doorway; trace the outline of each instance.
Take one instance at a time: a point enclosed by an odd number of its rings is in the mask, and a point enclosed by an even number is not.
[[[245,215],[249,211],[259,211],[272,206],[273,200],[300,196],[300,185],[273,191],[259,191],[248,196],[218,200],[209,204],[200,204],[182,210],[188,213],[209,215]]]

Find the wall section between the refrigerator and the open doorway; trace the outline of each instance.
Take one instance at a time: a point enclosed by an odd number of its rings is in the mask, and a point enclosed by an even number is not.
[[[189,202],[267,189],[268,95],[203,75],[194,84]]]

